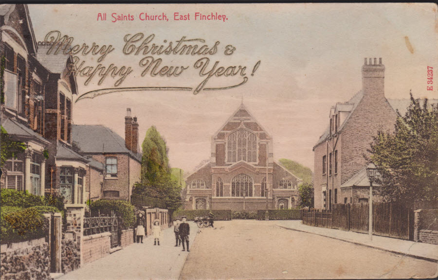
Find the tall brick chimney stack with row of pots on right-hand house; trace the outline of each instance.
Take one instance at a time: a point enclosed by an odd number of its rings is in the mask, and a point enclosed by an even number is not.
[[[384,92],[384,78],[385,78],[385,66],[382,64],[382,58],[379,58],[379,64],[377,64],[377,58],[369,58],[369,63],[362,66],[362,91],[364,98],[380,99],[385,97]]]

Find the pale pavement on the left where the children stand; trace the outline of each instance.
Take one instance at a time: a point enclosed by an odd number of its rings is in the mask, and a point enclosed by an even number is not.
[[[193,222],[189,224],[189,242],[192,247],[198,226]],[[152,236],[143,238],[143,244],[129,245],[69,272],[58,280],[178,279],[187,256],[192,252],[183,252],[183,246],[175,247],[173,226],[163,231],[160,246],[153,244]]]

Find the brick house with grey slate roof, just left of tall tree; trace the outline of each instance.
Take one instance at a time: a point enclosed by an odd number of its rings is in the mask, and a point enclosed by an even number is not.
[[[100,198],[130,201],[134,183],[141,180],[142,155],[138,145],[137,118],[125,117],[125,140],[103,125],[73,125],[73,140],[83,155],[90,157],[91,200]],[[97,166],[99,165],[99,166]],[[98,169],[103,169],[102,184],[97,184]],[[97,177],[96,177],[97,176]]]

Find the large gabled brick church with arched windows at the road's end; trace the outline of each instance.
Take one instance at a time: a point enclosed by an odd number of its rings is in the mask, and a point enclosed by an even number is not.
[[[186,178],[184,208],[296,208],[301,181],[274,162],[273,138],[241,104],[212,137],[210,161]]]

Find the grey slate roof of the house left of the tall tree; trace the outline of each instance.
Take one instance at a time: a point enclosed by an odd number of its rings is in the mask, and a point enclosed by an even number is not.
[[[73,141],[84,153],[127,153],[141,162],[142,155],[134,154],[125,146],[125,140],[103,125],[73,125]]]

